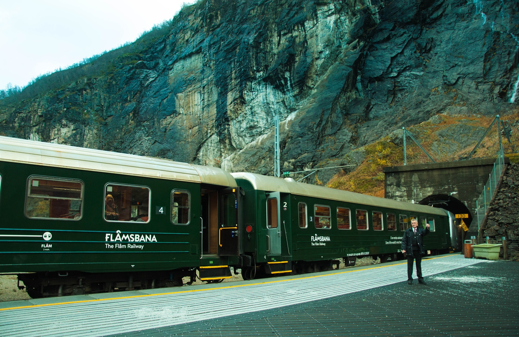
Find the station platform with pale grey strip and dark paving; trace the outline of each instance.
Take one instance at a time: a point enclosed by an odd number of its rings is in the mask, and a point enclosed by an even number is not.
[[[519,263],[456,254],[424,259],[422,270],[425,286],[407,285],[405,261],[396,261],[217,285],[3,302],[0,331],[3,336],[519,333]]]

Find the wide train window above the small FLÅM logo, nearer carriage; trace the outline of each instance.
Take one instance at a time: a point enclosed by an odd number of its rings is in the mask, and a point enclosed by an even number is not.
[[[25,215],[36,219],[79,220],[83,181],[37,177],[28,179]]]

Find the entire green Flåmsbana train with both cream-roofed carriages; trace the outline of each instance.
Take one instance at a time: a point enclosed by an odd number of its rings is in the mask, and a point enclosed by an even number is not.
[[[400,259],[413,218],[428,254],[452,214],[252,173],[0,136],[0,273],[33,298],[221,282]]]

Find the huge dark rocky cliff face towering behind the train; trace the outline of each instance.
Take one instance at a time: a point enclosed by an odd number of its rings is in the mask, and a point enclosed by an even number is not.
[[[99,71],[0,106],[0,134],[271,174],[279,114],[285,170],[340,165],[445,111],[517,110],[518,11],[502,0],[203,0]]]

